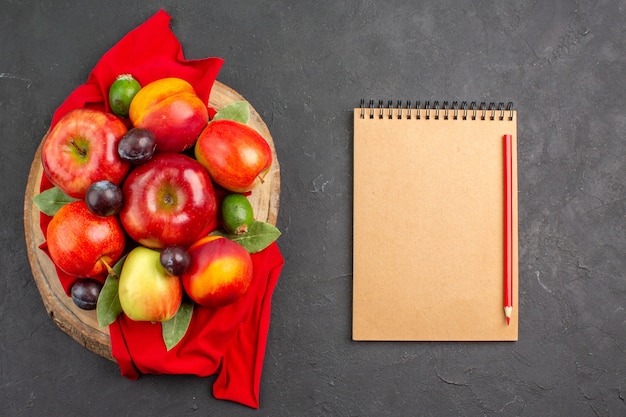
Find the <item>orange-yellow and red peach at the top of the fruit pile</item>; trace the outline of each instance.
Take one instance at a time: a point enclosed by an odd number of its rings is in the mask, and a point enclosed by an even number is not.
[[[209,111],[191,84],[169,77],[139,90],[130,102],[129,117],[133,126],[154,133],[157,152],[182,152],[196,142]]]

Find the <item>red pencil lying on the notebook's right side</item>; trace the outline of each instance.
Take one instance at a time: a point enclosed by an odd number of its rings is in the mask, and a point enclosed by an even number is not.
[[[513,313],[513,155],[512,137],[504,135],[504,316]]]

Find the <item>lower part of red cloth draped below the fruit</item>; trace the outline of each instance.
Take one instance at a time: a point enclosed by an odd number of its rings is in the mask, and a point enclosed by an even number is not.
[[[113,356],[122,374],[135,379],[141,374],[218,373],[213,384],[216,398],[258,408],[271,297],[283,258],[273,243],[253,254],[252,262],[254,278],[246,294],[219,309],[194,305],[187,335],[170,351],[159,323],[135,322],[122,315],[110,325]]]

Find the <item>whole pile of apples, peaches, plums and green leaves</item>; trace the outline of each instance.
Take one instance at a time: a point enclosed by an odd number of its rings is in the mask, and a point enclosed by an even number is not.
[[[53,187],[34,200],[52,216],[47,248],[76,277],[75,304],[96,309],[100,326],[122,312],[161,322],[169,349],[194,304],[220,308],[246,293],[250,253],[280,235],[254,219],[246,197],[272,152],[247,124],[247,102],[209,118],[180,78],[142,87],[121,75],[109,105],[72,110],[53,126],[41,154]]]

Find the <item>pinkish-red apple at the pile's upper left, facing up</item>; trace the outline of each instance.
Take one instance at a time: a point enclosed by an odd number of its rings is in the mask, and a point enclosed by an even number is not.
[[[75,109],[61,118],[47,134],[41,162],[50,182],[75,198],[99,180],[119,185],[130,169],[117,153],[127,132],[124,123],[110,113]]]

